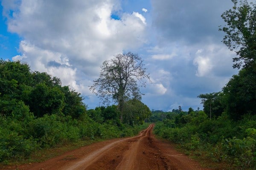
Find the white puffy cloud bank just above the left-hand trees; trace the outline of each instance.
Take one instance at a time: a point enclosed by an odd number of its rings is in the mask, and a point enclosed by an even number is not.
[[[12,57],[12,60],[26,61],[32,70],[47,72],[52,76],[61,78],[62,85],[70,85],[70,88],[76,91],[80,90],[82,85],[78,85],[76,81],[76,68],[70,65],[66,56],[35,47],[24,40],[20,42],[20,51],[23,55]],[[33,59],[31,56],[36,57]]]

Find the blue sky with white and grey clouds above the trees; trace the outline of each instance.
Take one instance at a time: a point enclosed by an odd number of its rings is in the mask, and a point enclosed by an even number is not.
[[[131,51],[151,82],[140,91],[151,110],[202,108],[199,94],[221,91],[238,70],[222,42],[231,0],[0,0],[0,58],[61,78],[88,108],[102,62]]]

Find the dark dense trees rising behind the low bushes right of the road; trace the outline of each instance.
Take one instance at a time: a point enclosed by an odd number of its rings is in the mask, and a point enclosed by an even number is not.
[[[256,71],[244,68],[238,75],[233,75],[222,91],[200,94],[204,112],[209,118],[221,116],[226,112],[234,120],[244,114],[256,114]]]

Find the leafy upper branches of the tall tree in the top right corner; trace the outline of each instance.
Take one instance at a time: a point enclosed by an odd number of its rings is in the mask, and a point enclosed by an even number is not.
[[[226,33],[222,42],[236,51],[238,57],[233,58],[233,68],[256,68],[256,3],[240,0],[238,7],[238,0],[232,2],[233,8],[221,15],[227,23],[219,28]]]

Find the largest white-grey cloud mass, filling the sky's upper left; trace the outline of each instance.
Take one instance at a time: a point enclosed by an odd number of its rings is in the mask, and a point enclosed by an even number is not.
[[[99,75],[104,60],[146,41],[146,20],[141,14],[111,18],[119,9],[116,0],[19,2],[2,1],[9,31],[23,37],[21,55],[12,59],[60,77],[64,85],[85,95],[92,95],[88,85]]]

